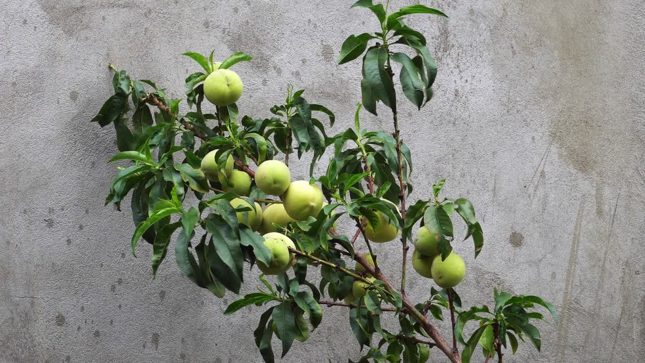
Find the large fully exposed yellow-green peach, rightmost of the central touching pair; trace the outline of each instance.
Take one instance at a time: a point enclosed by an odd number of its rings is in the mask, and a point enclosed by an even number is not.
[[[292,182],[283,195],[284,210],[294,220],[317,216],[323,209],[323,191],[304,180]]]

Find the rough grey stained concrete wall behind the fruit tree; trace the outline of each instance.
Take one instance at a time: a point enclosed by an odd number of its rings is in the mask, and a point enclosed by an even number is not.
[[[114,129],[89,120],[110,95],[108,62],[181,96],[197,68],[178,54],[214,48],[255,57],[235,67],[244,113],[268,115],[290,82],[328,105],[341,130],[360,99],[361,66],[335,59],[346,36],[376,26],[350,2],[5,1],[0,362],[261,362],[251,333],[260,309],[223,316],[232,294],[195,287],[173,256],[152,280],[149,245],[131,256],[130,211],[103,207]],[[481,218],[481,256],[473,260],[471,242],[455,246],[468,265],[464,304],[490,304],[493,286],[554,302],[561,320],[539,325],[542,353],[523,346],[509,362],[642,362],[645,3],[424,3],[451,18],[412,17],[439,77],[421,112],[403,102],[402,137],[413,197],[448,178],[446,195],[468,196]],[[391,130],[386,112],[363,117]],[[293,174],[306,176],[306,164]],[[379,246],[392,278],[399,249]],[[427,280],[411,275],[421,301]],[[325,308],[311,340],[281,361],[344,362],[357,350],[347,312]]]

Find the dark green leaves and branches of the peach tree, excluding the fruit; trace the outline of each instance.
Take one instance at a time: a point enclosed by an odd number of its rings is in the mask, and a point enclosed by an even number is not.
[[[310,330],[321,324],[324,306],[350,309],[348,329],[364,350],[361,362],[425,362],[434,346],[439,346],[452,362],[468,362],[477,346],[482,347],[484,355],[494,356],[508,344],[515,353],[517,338],[528,338],[540,349],[539,332],[530,320],[541,320],[543,316],[530,309],[544,306],[555,318],[553,306],[541,298],[511,296],[495,290],[495,309],[462,309],[455,289],[438,291],[432,287],[426,302],[412,304],[404,289],[396,289],[382,275],[379,265],[366,262],[356,253],[366,247],[372,260],[376,260],[367,238],[364,245],[357,242],[359,235],[364,236],[367,224],[375,231],[384,227],[383,223],[402,231],[404,260],[406,241],[412,240],[416,226],[425,226],[437,236],[442,259],[451,253],[455,243],[453,217],[459,216],[465,223],[464,240],[473,240],[475,257],[481,252],[483,233],[471,202],[466,198],[440,198],[445,180],[433,185],[428,198],[408,201],[401,214],[394,204],[405,205],[406,196],[412,192],[413,171],[411,150],[399,139],[397,129],[397,90],[400,88],[420,110],[432,99],[437,76],[426,38],[406,25],[406,18],[415,14],[447,16],[424,5],[390,11],[387,3],[375,4],[372,0],[357,1],[352,7],[370,10],[380,28],[373,33],[351,35],[342,43],[339,64],[362,57],[362,102],[353,127],[335,135],[330,136],[327,129],[335,123],[333,112],[308,101],[304,90],[292,87],[284,103],[260,117],[241,114],[235,104],[212,107],[204,103],[203,81],[217,68],[213,52],[208,57],[195,52],[183,54],[202,68],[186,77],[187,109],[180,107],[183,99],[170,98],[154,81],[132,79],[126,71],[113,67],[114,95],[92,121],[115,128],[120,152],[110,162],[121,166],[117,167],[105,203],[120,208],[130,195],[135,227],[132,254],[141,239],[152,244],[152,273],[156,276],[165,265],[168,249],[174,248],[179,270],[197,286],[219,298],[227,290],[239,294],[242,284],[248,283],[243,279],[245,266],[253,267],[258,261],[268,264],[271,253],[263,244],[263,236],[247,227],[248,223],[239,222],[238,213],[248,218],[253,207],[236,208],[228,201],[242,198],[252,206],[255,202],[268,205],[281,201],[268,198],[255,185],[248,196],[224,192],[231,185],[225,173],[228,158],[235,160],[239,170],[253,176],[253,169],[265,160],[283,154],[288,164],[291,154],[300,159],[312,152],[311,182],[321,185],[328,205],[307,220],[279,226],[296,244],[292,252],[297,258],[292,269],[276,276],[275,282],[259,275],[261,287],[257,292],[242,296],[224,312],[228,315],[247,306],[266,307],[253,331],[265,362],[274,361],[274,349],[284,357],[294,340],[304,342]],[[247,54],[237,52],[226,57],[219,68],[251,60]],[[392,63],[399,67],[398,78]],[[361,110],[376,115],[379,103],[392,112],[394,133],[361,128]],[[313,167],[328,149],[333,150],[333,157],[324,174],[314,176]],[[217,182],[208,180],[200,167],[212,150],[217,150],[217,169],[222,172]],[[357,223],[355,236],[335,232],[339,218]],[[352,269],[353,260],[364,271]],[[405,268],[404,264],[403,279]],[[355,295],[355,284],[364,287],[359,289],[361,295]],[[428,312],[431,317],[426,318]],[[381,316],[385,313],[396,314],[398,326],[382,326]],[[457,314],[453,333],[464,346],[461,358],[430,329],[431,320],[443,320],[445,313]],[[479,322],[479,328],[466,339],[464,327],[471,320]],[[280,347],[272,346],[273,334],[279,338]]]

